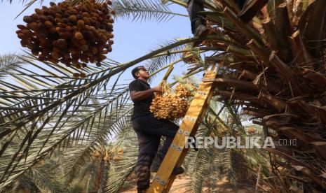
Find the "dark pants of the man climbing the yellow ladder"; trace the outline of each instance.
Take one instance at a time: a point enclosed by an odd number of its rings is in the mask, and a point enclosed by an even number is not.
[[[149,187],[150,167],[160,145],[161,136],[166,137],[163,147],[158,151],[158,158],[162,161],[179,126],[168,120],[157,120],[151,113],[135,117],[132,124],[139,144],[135,173],[137,176],[137,190],[141,192]]]

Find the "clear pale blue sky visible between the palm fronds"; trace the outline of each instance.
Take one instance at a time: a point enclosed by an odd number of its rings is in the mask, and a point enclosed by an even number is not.
[[[161,0],[156,0],[161,1]],[[49,1],[44,1],[43,5],[48,6]],[[24,6],[21,1],[13,0],[9,3],[4,0],[0,3],[0,55],[9,52],[22,52],[19,39],[15,34],[17,24],[23,24],[23,15],[30,15],[34,12],[34,8],[41,7],[40,3],[25,10],[20,17],[15,17],[23,10]],[[186,9],[182,6],[172,5],[170,9],[176,13],[187,15]],[[113,51],[107,57],[118,62],[128,62],[142,55],[146,55],[150,50],[154,50],[157,46],[165,41],[173,38],[186,38],[192,36],[190,29],[189,17],[175,16],[168,22],[142,21],[132,22],[131,20],[122,20],[118,18],[114,22],[114,45]],[[186,71],[186,66],[177,67],[175,73]],[[129,73],[125,73],[123,78],[128,80]],[[173,76],[173,74],[171,75]],[[158,77],[159,79],[159,77]],[[153,84],[158,83],[154,81]],[[153,85],[154,86],[154,85]]]

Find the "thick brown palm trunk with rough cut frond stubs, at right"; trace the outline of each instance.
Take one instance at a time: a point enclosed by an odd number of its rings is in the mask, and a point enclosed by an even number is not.
[[[215,80],[215,95],[242,103],[243,112],[254,120],[262,119],[276,140],[297,138],[297,146],[278,147],[283,153],[273,153],[303,166],[304,175],[320,176],[326,166],[322,154],[326,150],[325,1],[275,0],[263,8],[254,3],[267,1],[250,1],[242,12],[232,1],[219,2],[222,13],[209,7],[211,12],[201,13],[222,29],[224,38],[215,42],[228,45],[222,49],[224,55],[207,58],[223,64],[230,73]],[[276,169],[279,164],[285,167],[282,161],[272,165],[273,175],[286,189],[289,182],[280,178],[285,171]],[[293,165],[285,168],[291,170]],[[326,188],[325,179],[307,177]]]

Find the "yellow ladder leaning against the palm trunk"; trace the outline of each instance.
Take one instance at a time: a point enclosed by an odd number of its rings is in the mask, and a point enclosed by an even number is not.
[[[213,65],[210,69],[205,71],[204,78],[215,79],[216,76],[217,68]],[[172,175],[172,171],[176,166],[181,166],[186,152],[188,151],[188,148],[184,148],[186,137],[195,136],[201,116],[212,98],[213,91],[213,82],[202,82],[201,85],[199,85],[186,115],[182,120],[182,124],[177,134],[175,134],[175,138],[147,190],[148,193],[169,192],[175,180],[175,175]]]

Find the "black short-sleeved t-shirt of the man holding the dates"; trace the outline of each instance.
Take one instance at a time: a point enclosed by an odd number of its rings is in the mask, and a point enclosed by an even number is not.
[[[144,80],[133,80],[129,84],[129,91],[144,91],[149,90],[151,87],[149,86],[149,83],[145,82]],[[154,94],[147,97],[146,99],[142,99],[141,101],[133,101],[134,102],[134,111],[132,119],[135,117],[140,117],[142,115],[147,115],[151,113],[149,111],[149,107],[151,106],[151,101],[153,100]]]

